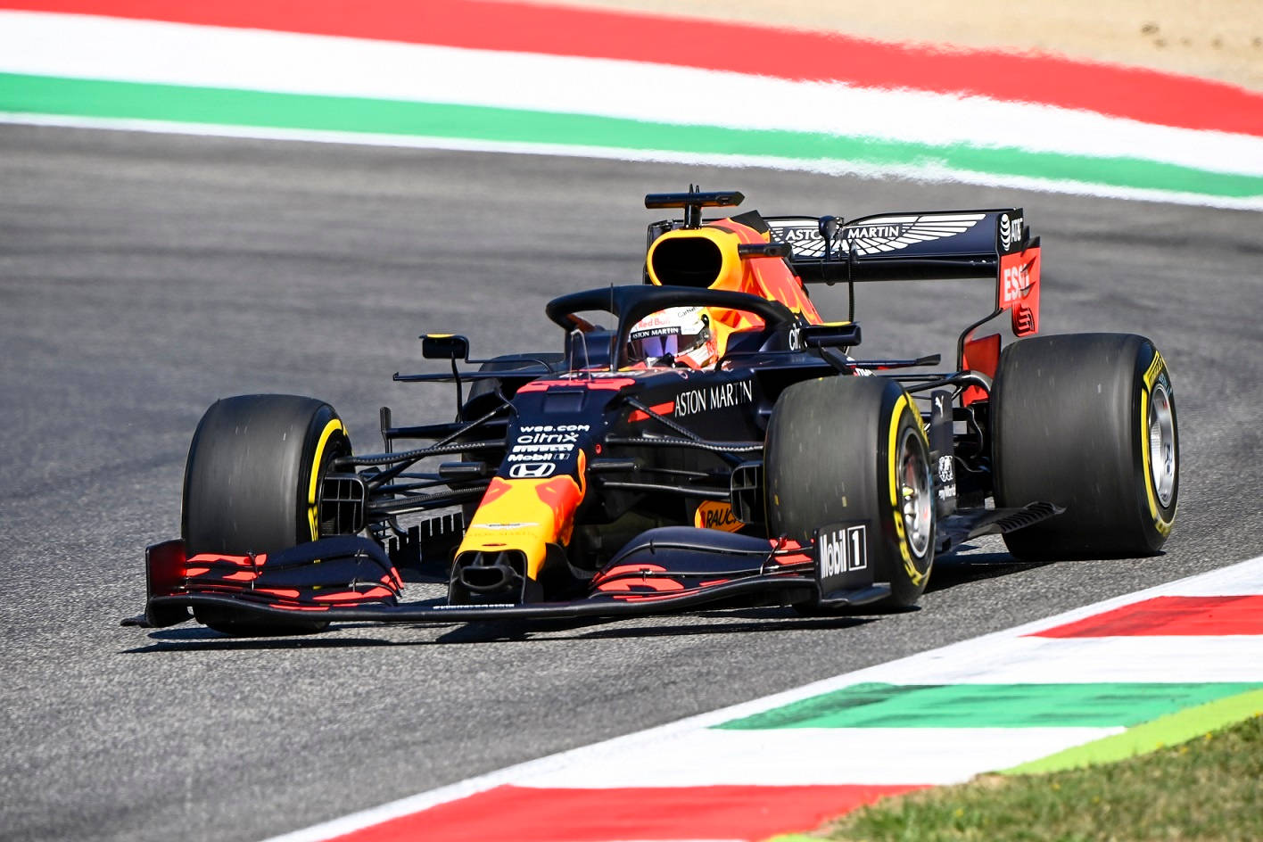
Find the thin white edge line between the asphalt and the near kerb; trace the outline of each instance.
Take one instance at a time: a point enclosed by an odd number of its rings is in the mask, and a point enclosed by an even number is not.
[[[1004,651],[1007,641],[1010,641],[1014,637],[1104,614],[1105,611],[1111,611],[1113,608],[1149,600],[1156,596],[1194,596],[1206,593],[1247,595],[1260,592],[1263,592],[1263,555],[1233,564],[1230,567],[1210,571],[1207,573],[1201,573],[1199,576],[1176,582],[1168,582],[1166,584],[1146,588],[1143,591],[1128,593],[1111,600],[1104,600],[1081,608],[1065,611],[1052,617],[1027,622],[1004,631],[991,632],[983,635],[981,637],[951,644],[941,649],[909,655],[908,658],[902,658],[888,664],[879,664],[877,667],[869,667],[853,673],[846,673],[844,675],[836,675],[834,678],[796,687],[783,693],[775,693],[751,702],[734,704],[727,708],[711,711],[710,713],[701,713],[698,716],[671,722],[647,731],[614,737],[613,740],[605,740],[590,746],[572,749],[570,751],[563,751],[547,757],[541,757],[538,760],[500,769],[486,775],[470,778],[467,780],[442,786],[440,789],[433,789],[427,793],[421,793],[410,798],[404,798],[368,810],[352,813],[350,815],[333,819],[332,822],[325,822],[293,833],[278,836],[268,842],[318,842],[322,839],[330,839],[332,837],[350,833],[371,824],[378,824],[392,818],[418,813],[437,804],[474,795],[491,789],[493,786],[505,784],[524,785],[525,781],[541,781],[548,780],[549,778],[560,780],[565,775],[575,775],[576,770],[586,768],[590,762],[600,762],[602,757],[645,757],[653,752],[659,752],[666,756],[671,754],[672,745],[683,738],[690,738],[693,732],[702,728],[729,722],[740,717],[762,713],[763,711],[791,704],[801,699],[837,691],[861,682],[898,683],[894,679],[901,675],[914,675],[916,683],[942,683],[941,679],[950,675],[952,670],[959,669],[960,661],[985,663],[991,654]],[[1202,637],[1201,640],[1206,639]],[[1166,670],[1166,665],[1161,660],[1151,661],[1149,665],[1153,670],[1149,680],[1171,680],[1172,678],[1178,678],[1168,673]],[[1263,680],[1263,661],[1257,661],[1253,667],[1257,669],[1255,674],[1258,675],[1254,680]],[[1092,728],[1084,728],[1081,731],[1091,730]],[[859,731],[859,728],[854,731]],[[921,730],[918,730],[918,732],[919,731]],[[1012,732],[1012,730],[1007,730],[1007,732]],[[733,732],[727,731],[726,733]],[[909,774],[904,781],[911,783],[913,778],[914,775]],[[768,780],[770,780],[772,784],[775,783],[770,779],[770,776]]]

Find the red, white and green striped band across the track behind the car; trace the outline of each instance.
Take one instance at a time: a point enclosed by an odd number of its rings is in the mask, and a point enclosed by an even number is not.
[[[482,0],[5,0],[0,119],[1263,208],[1263,93],[1229,83]]]

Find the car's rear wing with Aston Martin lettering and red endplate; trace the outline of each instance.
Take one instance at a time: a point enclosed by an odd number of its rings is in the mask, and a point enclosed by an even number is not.
[[[1039,239],[1022,208],[764,220],[803,283],[991,278],[993,316],[1009,311],[1017,336],[1039,329]]]

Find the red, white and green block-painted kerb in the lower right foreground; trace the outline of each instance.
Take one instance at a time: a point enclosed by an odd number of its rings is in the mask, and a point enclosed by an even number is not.
[[[1250,716],[1263,557],[270,842],[758,842],[887,795],[1123,760]]]

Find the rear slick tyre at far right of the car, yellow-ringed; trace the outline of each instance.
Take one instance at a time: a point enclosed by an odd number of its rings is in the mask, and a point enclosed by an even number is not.
[[[1162,355],[1125,333],[1014,342],[991,390],[997,506],[1062,515],[1004,535],[1023,559],[1157,553],[1180,500],[1176,401]]]

